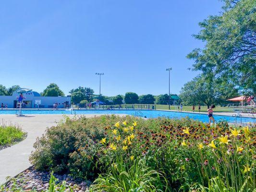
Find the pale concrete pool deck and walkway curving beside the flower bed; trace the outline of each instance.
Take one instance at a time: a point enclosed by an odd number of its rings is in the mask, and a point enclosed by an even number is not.
[[[68,116],[73,117],[73,115]],[[100,115],[86,114],[82,116],[89,118]],[[24,117],[0,115],[0,122],[19,125],[24,132],[27,132],[27,138],[22,142],[0,150],[0,184],[6,181],[6,177],[14,177],[31,166],[28,158],[34,149],[33,144],[37,137],[42,136],[48,127],[56,125],[62,119],[63,115],[26,115]]]

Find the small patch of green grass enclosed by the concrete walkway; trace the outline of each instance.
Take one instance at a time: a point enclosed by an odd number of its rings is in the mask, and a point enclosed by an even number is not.
[[[24,139],[25,133],[15,126],[0,126],[0,147],[10,145]]]

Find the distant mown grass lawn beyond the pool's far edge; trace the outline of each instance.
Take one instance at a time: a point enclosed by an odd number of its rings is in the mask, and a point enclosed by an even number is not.
[[[157,109],[168,110],[169,105],[156,105]],[[174,106],[171,106],[171,110],[175,110]],[[192,111],[192,106],[183,106],[183,111]],[[198,106],[195,106],[195,112],[198,112]],[[201,112],[207,112],[207,106],[201,106]],[[233,108],[216,106],[214,112],[233,112]]]

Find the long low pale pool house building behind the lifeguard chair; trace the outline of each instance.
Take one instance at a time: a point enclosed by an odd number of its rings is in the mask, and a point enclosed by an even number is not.
[[[0,96],[0,104],[3,104],[4,108],[6,106],[16,108],[19,90],[14,91],[12,96]],[[58,103],[58,108],[67,108],[71,104],[70,96],[40,96],[38,92],[32,90],[24,93],[23,96],[23,108],[53,108],[54,103]]]

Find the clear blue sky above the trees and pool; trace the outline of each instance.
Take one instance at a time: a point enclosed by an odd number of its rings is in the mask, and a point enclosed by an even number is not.
[[[186,55],[204,43],[198,22],[219,0],[12,0],[0,6],[0,84],[41,92],[56,83],[107,96],[171,93],[198,72]]]

